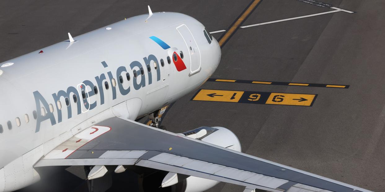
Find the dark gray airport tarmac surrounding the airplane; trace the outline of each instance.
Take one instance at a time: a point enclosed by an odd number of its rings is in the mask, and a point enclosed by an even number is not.
[[[1,1],[0,60],[66,40],[67,32],[77,36],[146,13],[147,5],[153,12],[190,15],[210,31],[226,30],[250,2]],[[201,88],[318,96],[313,106],[303,107],[191,101],[195,91],[169,109],[162,125],[172,132],[223,126],[238,136],[247,154],[376,192],[385,190],[385,3],[323,2],[355,13],[336,12],[239,29],[224,44],[212,78],[346,84],[348,89],[206,82]],[[331,10],[297,0],[263,0],[242,25]],[[57,190],[87,191],[76,176],[81,171],[71,174],[67,170],[50,171],[64,184],[57,185]],[[221,183],[208,191],[242,190]],[[20,191],[36,191],[36,185]]]

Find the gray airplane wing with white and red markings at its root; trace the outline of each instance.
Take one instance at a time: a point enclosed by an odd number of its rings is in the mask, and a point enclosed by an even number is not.
[[[35,164],[136,165],[272,192],[370,192],[198,139],[115,117],[65,141]]]

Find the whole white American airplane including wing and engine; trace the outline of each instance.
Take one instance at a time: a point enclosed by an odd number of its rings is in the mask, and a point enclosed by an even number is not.
[[[0,63],[0,192],[40,179],[39,167],[165,171],[161,187],[219,182],[272,192],[370,192],[241,152],[233,132],[157,128],[165,107],[214,73],[221,49],[196,19],[158,12],[128,18]],[[152,115],[152,125],[135,120]]]

